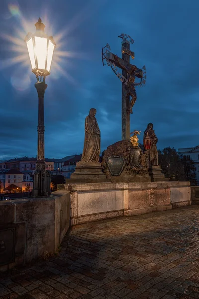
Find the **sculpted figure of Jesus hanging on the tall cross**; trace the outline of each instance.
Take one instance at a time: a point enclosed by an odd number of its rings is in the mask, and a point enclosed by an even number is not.
[[[128,69],[127,67],[125,67],[123,64],[120,63],[119,58],[117,55],[114,55],[115,61],[117,62],[118,66],[123,69],[124,71],[126,71],[127,74],[127,82],[128,85],[126,86],[127,89],[127,93],[126,93],[126,97],[128,98],[129,95],[131,96],[131,101],[130,101],[130,106],[128,112],[129,113],[133,113],[133,106],[137,100],[137,94],[136,94],[136,90],[135,90],[135,77],[137,78],[143,78],[143,71],[141,69],[138,69],[135,65],[131,64],[130,69]]]

